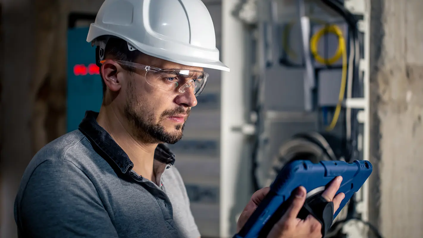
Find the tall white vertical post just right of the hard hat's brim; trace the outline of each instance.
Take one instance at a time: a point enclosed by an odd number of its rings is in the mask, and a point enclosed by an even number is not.
[[[232,15],[239,0],[222,1],[222,62],[231,72],[222,72],[221,88],[221,135],[220,135],[220,237],[232,237],[236,216],[233,208],[237,204],[236,194],[242,170],[242,148],[244,135],[232,128],[244,122],[244,27]],[[239,202],[239,201],[238,201]],[[246,205],[246,204],[245,204]]]

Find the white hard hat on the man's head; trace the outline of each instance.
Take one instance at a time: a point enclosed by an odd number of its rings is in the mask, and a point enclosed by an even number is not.
[[[130,50],[171,62],[229,71],[219,60],[213,22],[201,0],[105,0],[87,37],[104,50],[99,36],[121,38]]]

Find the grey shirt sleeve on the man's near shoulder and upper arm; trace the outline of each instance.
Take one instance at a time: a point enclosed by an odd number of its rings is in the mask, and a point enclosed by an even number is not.
[[[93,183],[63,159],[34,170],[16,215],[19,237],[118,238]]]

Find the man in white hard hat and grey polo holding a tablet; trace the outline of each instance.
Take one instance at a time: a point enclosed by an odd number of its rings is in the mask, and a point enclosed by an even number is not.
[[[200,0],[106,0],[91,25],[104,96],[79,129],[42,148],[15,202],[19,237],[199,237],[174,154],[208,74],[219,61],[213,23]],[[324,193],[335,210],[339,180]],[[257,191],[243,226],[268,192]],[[299,188],[269,237],[320,237],[320,223],[297,219]]]

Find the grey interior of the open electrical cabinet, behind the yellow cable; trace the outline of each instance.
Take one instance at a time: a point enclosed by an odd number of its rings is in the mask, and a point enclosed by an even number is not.
[[[265,61],[257,76],[263,91],[260,102],[263,108],[263,129],[260,135],[258,173],[265,179],[272,161],[279,154],[280,146],[294,134],[324,131],[324,125],[328,123],[322,116],[322,108],[333,110],[338,102],[341,69],[335,68],[340,65],[339,60],[332,65],[333,68],[324,67],[313,60],[315,86],[308,89],[307,68],[301,65],[305,58],[302,56],[301,41],[298,41],[301,38],[300,24],[297,14],[293,14],[297,12],[295,1],[264,0],[258,1],[257,5],[258,11],[261,11],[257,14],[258,45],[262,45],[258,47],[257,55],[261,55]],[[306,14],[310,17],[310,36],[322,27],[320,22],[336,24],[343,32],[347,31],[341,17],[336,16],[331,9],[323,8],[319,0],[307,1],[306,6]],[[284,30],[287,25],[291,25],[288,33]],[[292,44],[283,44],[283,35]],[[330,56],[338,47],[338,39],[328,34],[319,41],[319,47],[321,55]],[[282,63],[282,58],[293,65]],[[309,105],[313,109],[309,109]],[[331,133],[342,137],[343,130],[342,123],[337,123]]]

